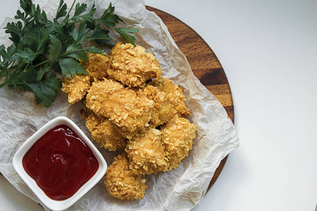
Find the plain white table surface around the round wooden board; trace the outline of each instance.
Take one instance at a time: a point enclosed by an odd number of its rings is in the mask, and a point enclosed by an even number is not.
[[[317,1],[161,0],[211,46],[228,77],[240,148],[198,210],[315,210]],[[18,1],[0,1],[0,22]],[[0,210],[42,210],[0,177]]]

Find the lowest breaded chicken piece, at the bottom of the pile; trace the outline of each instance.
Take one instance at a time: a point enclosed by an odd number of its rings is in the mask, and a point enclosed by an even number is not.
[[[104,186],[108,193],[119,199],[144,198],[146,179],[142,174],[133,174],[129,168],[128,156],[123,153],[114,158],[104,176]]]

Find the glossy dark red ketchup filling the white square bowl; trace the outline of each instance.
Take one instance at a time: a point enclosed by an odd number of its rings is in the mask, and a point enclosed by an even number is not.
[[[23,157],[23,167],[46,196],[73,196],[99,168],[92,150],[66,125],[46,132]]]

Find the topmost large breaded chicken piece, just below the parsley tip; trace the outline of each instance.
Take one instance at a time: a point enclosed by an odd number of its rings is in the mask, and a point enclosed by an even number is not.
[[[142,46],[116,44],[109,53],[112,70],[108,75],[128,87],[144,87],[148,79],[161,77],[161,66],[152,53],[145,53]]]

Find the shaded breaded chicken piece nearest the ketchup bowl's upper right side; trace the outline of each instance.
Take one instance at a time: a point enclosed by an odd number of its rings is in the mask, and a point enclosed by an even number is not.
[[[106,117],[98,117],[87,107],[82,111],[82,119],[86,121],[86,127],[92,133],[92,139],[108,151],[124,151],[127,141],[116,129],[116,124]]]

